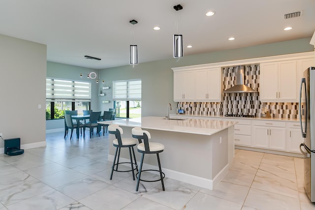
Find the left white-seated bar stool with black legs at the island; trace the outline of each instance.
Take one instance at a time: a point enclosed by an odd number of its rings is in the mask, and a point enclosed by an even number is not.
[[[134,150],[133,147],[136,146],[137,144],[137,140],[135,140],[134,138],[122,138],[121,134],[123,134],[123,129],[121,127],[119,127],[119,125],[109,125],[108,126],[108,133],[110,134],[115,134],[116,139],[113,140],[113,146],[116,147],[116,151],[115,151],[115,157],[114,157],[114,161],[113,161],[113,165],[112,165],[112,172],[110,174],[110,180],[112,180],[113,178],[113,172],[117,171],[117,172],[132,172],[132,178],[134,179],[134,170],[138,171],[138,165],[137,165],[137,161],[136,161],[136,156],[134,154]],[[128,148],[129,149],[129,156],[130,156],[130,162],[119,162],[119,156],[120,156],[120,150],[121,148]],[[133,160],[132,161],[132,156],[131,156],[131,149],[132,149],[132,153],[133,153]],[[117,151],[118,151],[118,156],[117,156]],[[117,158],[117,163],[116,163],[116,158]],[[122,164],[122,163],[130,163],[131,165],[131,170],[128,171],[119,171],[118,170],[118,165]],[[135,168],[133,168],[133,165],[135,165]],[[116,169],[114,169],[116,166]]]

